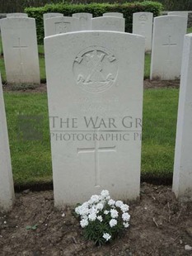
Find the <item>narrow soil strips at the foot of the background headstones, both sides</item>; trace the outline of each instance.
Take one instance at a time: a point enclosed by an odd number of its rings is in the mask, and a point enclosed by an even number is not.
[[[144,88],[145,89],[157,89],[157,88],[179,88],[180,80],[169,80],[169,81],[161,81],[161,80],[144,80]],[[4,84],[3,91],[19,91],[19,92],[47,92],[46,83],[40,83],[40,85],[10,85]]]

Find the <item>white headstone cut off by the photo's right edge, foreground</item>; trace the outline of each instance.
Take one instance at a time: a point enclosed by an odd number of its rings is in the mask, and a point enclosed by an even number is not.
[[[192,201],[192,34],[185,36],[176,130],[173,192]]]

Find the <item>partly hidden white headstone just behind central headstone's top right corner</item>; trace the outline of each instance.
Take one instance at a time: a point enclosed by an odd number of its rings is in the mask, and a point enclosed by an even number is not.
[[[152,50],[152,12],[133,13],[133,34],[145,37],[145,51]]]

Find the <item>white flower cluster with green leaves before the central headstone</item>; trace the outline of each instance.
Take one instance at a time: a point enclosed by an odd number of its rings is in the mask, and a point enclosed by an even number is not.
[[[129,227],[129,206],[123,201],[110,198],[110,193],[103,190],[101,195],[91,196],[89,201],[75,208],[80,216],[80,225],[87,239],[96,244],[104,244],[114,239],[119,231]]]

